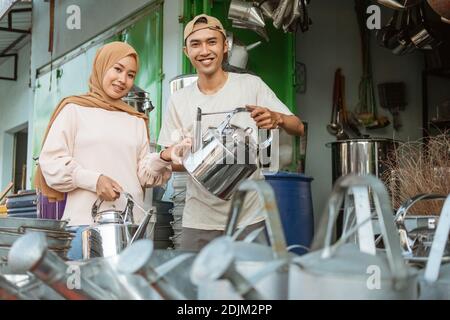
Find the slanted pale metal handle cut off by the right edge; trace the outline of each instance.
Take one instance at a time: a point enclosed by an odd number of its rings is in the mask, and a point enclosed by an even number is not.
[[[439,223],[431,245],[430,255],[427,266],[425,267],[424,278],[427,282],[435,282],[439,277],[442,257],[444,256],[445,246],[447,245],[450,232],[450,195],[444,202]]]

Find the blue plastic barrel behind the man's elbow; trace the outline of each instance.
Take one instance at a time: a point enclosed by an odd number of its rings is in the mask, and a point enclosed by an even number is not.
[[[313,178],[290,172],[267,174],[265,178],[275,192],[288,246],[299,244],[310,248],[314,236]],[[307,250],[296,248],[292,252],[304,254]]]

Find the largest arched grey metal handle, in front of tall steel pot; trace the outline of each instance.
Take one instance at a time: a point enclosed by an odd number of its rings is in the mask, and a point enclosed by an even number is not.
[[[354,186],[370,187],[373,191],[373,200],[376,207],[376,213],[380,222],[380,229],[383,235],[383,241],[386,248],[389,268],[393,274],[394,285],[396,288],[403,288],[407,285],[408,271],[402,258],[400,247],[400,238],[394,225],[394,213],[390,206],[389,195],[384,184],[373,175],[357,176],[347,175],[340,177],[334,187],[327,202],[327,208],[323,215],[323,221],[314,237],[311,251],[323,248],[323,258],[330,257],[331,253],[344,241],[338,241],[331,247],[333,237],[333,227],[336,223],[338,212],[342,206],[344,196],[348,189]],[[360,223],[355,229],[358,230],[364,223],[370,222],[370,219]],[[354,232],[355,230],[353,230]],[[352,232],[349,232],[349,236]]]

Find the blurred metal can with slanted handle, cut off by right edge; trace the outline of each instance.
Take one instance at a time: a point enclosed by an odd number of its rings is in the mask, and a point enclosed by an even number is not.
[[[450,196],[445,200],[425,270],[420,276],[420,299],[450,300],[450,264],[443,264],[450,235]]]

